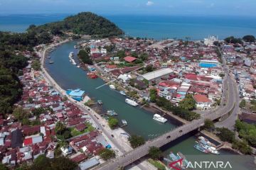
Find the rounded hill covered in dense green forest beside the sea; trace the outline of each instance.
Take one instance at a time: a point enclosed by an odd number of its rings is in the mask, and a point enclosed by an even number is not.
[[[63,21],[46,23],[42,26],[30,26],[28,30],[36,30],[38,33],[46,30],[53,35],[61,35],[70,31],[75,34],[94,35],[97,37],[110,37],[124,34],[114,23],[95,13],[82,12],[75,16],[69,16]]]

